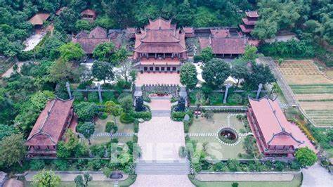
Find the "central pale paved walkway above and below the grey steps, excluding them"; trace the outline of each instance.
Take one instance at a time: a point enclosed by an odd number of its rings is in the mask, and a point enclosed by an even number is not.
[[[170,111],[171,103],[165,99],[152,99],[152,112]],[[174,122],[170,115],[153,115],[152,120],[139,124],[138,145],[141,160],[183,160],[178,156],[180,146],[185,146],[182,122]],[[138,174],[132,186],[193,186],[187,174]]]

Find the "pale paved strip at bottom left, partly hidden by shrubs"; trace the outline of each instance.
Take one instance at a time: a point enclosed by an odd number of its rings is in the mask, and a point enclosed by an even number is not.
[[[32,181],[35,174],[39,172],[26,172],[25,180]],[[79,174],[83,175],[86,172],[55,172],[56,175],[60,176],[61,181],[74,181],[75,177]],[[103,172],[88,172],[92,177],[93,181],[116,181],[114,179],[107,178]],[[124,177],[119,181],[124,181],[129,176],[128,174],[123,174]]]

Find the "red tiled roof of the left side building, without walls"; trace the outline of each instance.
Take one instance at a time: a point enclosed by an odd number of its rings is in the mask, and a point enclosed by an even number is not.
[[[63,129],[67,126],[68,116],[72,112],[74,99],[64,101],[55,98],[46,103],[46,107],[39,115],[25,145],[27,146],[55,146],[63,136]]]

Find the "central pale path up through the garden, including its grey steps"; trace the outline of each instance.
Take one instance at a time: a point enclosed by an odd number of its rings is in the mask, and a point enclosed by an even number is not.
[[[179,147],[185,146],[183,124],[172,121],[170,115],[159,115],[161,111],[170,114],[169,100],[154,98],[149,105],[153,115],[139,126],[142,157],[133,186],[193,186],[187,175],[189,162],[178,156]]]

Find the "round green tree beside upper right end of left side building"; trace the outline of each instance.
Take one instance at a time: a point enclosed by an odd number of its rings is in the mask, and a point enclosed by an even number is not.
[[[75,105],[74,111],[81,122],[89,122],[97,115],[98,107],[96,103],[81,102]]]

